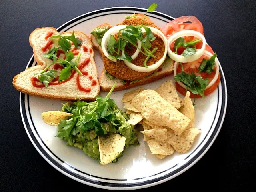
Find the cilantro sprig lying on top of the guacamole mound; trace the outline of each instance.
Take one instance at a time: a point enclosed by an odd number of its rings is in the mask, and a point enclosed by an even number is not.
[[[114,115],[111,112],[117,109],[115,101],[109,98],[115,86],[116,83],[105,98],[97,96],[94,102],[77,101],[73,103],[73,109],[70,108],[70,103],[64,104],[62,110],[73,115],[70,120],[62,120],[58,124],[59,131],[56,136],[65,139],[78,132],[85,133],[90,130],[94,130],[96,135],[105,136],[107,131],[101,122],[111,119],[110,116]]]

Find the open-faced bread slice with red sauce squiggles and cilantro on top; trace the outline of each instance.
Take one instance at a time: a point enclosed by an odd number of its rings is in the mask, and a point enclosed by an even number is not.
[[[14,87],[25,94],[56,100],[95,100],[100,92],[90,38],[80,31],[59,34],[43,27],[29,36],[36,66],[16,75]]]

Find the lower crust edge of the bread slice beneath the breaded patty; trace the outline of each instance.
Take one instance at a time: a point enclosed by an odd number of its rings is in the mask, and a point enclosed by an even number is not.
[[[102,71],[101,76],[100,76],[100,89],[102,91],[110,91],[112,88],[113,84],[116,83],[116,87],[114,88],[114,91],[120,91],[120,90],[125,90],[129,89],[132,87],[148,84],[151,82],[154,82],[156,80],[159,80],[161,78],[164,78],[166,76],[169,76],[173,74],[173,66],[174,66],[174,61],[170,59],[168,56],[166,57],[166,60],[162,64],[160,70],[158,72],[153,73],[149,75],[148,77],[145,77],[138,82],[130,82],[130,84],[125,83],[122,79],[118,78],[113,78],[110,79],[106,73],[105,70]]]

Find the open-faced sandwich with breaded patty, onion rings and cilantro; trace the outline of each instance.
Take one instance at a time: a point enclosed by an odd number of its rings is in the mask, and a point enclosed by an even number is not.
[[[148,8],[152,12],[156,4]],[[171,75],[174,62],[166,57],[167,40],[148,16],[133,14],[112,26],[104,23],[92,31],[91,40],[104,63],[101,90],[116,90],[147,84]]]

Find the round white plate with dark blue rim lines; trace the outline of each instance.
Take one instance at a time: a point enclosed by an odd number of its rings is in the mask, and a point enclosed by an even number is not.
[[[79,30],[90,34],[90,32],[104,22],[115,25],[127,15],[145,13],[146,10],[134,7],[116,7],[96,10],[81,15],[58,28],[59,32]],[[160,12],[148,14],[152,21],[162,27],[173,18]],[[95,51],[95,60],[98,74],[103,67],[102,59]],[[34,57],[30,59],[27,67],[36,65]],[[41,113],[48,110],[60,110],[61,101],[48,100],[20,94],[20,111],[24,127],[31,142],[54,168],[66,176],[99,188],[113,190],[138,189],[160,184],[170,180],[194,165],[210,148],[214,142],[226,113],[227,90],[226,81],[220,66],[221,83],[218,89],[205,98],[196,99],[196,127],[202,133],[196,138],[192,148],[185,154],[175,152],[159,160],[150,154],[148,145],[142,140],[138,133],[140,146],[130,146],[125,150],[124,155],[117,163],[105,166],[99,165],[97,160],[86,156],[82,150],[66,146],[66,142],[54,137],[57,128],[48,126],[42,121]],[[144,88],[156,89],[162,82],[173,79],[168,76],[156,82],[143,86]],[[134,88],[135,89],[135,88]],[[122,96],[129,90],[114,92],[111,95],[118,107],[122,108]],[[106,92],[101,92],[101,96]]]

